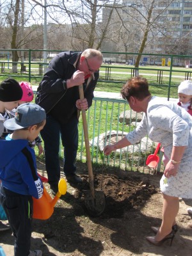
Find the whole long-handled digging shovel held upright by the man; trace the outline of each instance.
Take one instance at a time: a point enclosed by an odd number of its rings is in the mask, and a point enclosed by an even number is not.
[[[79,85],[79,97],[81,100],[84,99],[83,84]],[[82,113],[82,120],[83,120],[84,143],[86,148],[86,162],[88,166],[88,176],[89,176],[89,184],[90,184],[90,191],[83,191],[84,204],[88,213],[93,217],[97,217],[97,216],[100,216],[100,214],[102,214],[102,212],[105,209],[106,198],[103,191],[96,191],[94,188],[92,160],[90,156],[88,127],[86,122],[86,111],[82,109],[81,113]]]

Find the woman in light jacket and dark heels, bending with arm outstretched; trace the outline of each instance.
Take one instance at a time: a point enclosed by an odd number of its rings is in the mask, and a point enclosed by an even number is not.
[[[192,118],[177,103],[152,97],[147,79],[132,77],[122,88],[122,97],[127,99],[132,110],[143,112],[143,119],[122,140],[104,148],[104,154],[127,147],[148,136],[164,147],[164,174],[160,181],[163,193],[163,220],[161,227],[152,227],[156,236],[147,237],[155,245],[167,239],[171,244],[177,225],[179,197],[192,198]]]

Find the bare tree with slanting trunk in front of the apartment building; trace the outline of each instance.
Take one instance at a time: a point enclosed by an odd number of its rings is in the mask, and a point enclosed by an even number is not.
[[[170,22],[162,17],[173,0],[139,0],[128,5],[125,2],[115,8],[120,28],[117,44],[119,48],[122,45],[125,51],[131,48],[131,51],[138,52],[135,61],[135,67],[138,67],[147,46],[154,44],[159,35],[166,36]]]

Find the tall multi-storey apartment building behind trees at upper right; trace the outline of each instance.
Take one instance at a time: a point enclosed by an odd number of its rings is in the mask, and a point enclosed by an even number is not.
[[[169,2],[170,4],[168,4]],[[113,13],[113,20],[116,19],[118,22],[114,22],[114,24],[120,24],[123,20],[130,33],[122,29],[120,25],[118,25],[119,31],[115,30],[116,25],[111,26],[110,30],[114,30],[113,33],[120,32],[122,36],[119,36],[118,42],[115,40],[105,42],[102,45],[102,51],[115,51],[115,49],[116,51],[125,51],[127,47],[128,52],[137,52],[145,36],[150,8],[151,0],[119,2],[117,9],[119,17],[117,17],[117,12]],[[109,8],[106,6],[103,10],[102,20],[106,20],[108,12]],[[192,1],[157,0],[152,8],[150,22],[143,52],[192,55]],[[126,36],[127,42],[125,42]],[[113,38],[112,32],[111,38]],[[124,42],[121,42],[123,40]]]

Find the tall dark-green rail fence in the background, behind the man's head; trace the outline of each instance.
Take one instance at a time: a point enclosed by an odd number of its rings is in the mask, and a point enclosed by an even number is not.
[[[23,52],[23,62],[12,61],[14,51],[17,51],[18,56]],[[38,84],[52,58],[45,58],[42,61],[42,56],[45,53],[47,57],[54,56],[61,51],[65,50],[1,49],[0,76],[22,77],[31,84]],[[167,95],[170,99],[176,96],[177,86],[181,81],[191,79],[191,56],[135,52],[102,52],[102,54],[104,63],[100,68],[98,83],[116,86],[116,84],[124,84],[130,77],[145,76],[150,86],[161,86],[164,97]],[[134,67],[137,58],[140,58],[140,65]],[[111,64],[106,59],[110,59]],[[18,66],[19,72],[12,72],[13,65]]]

